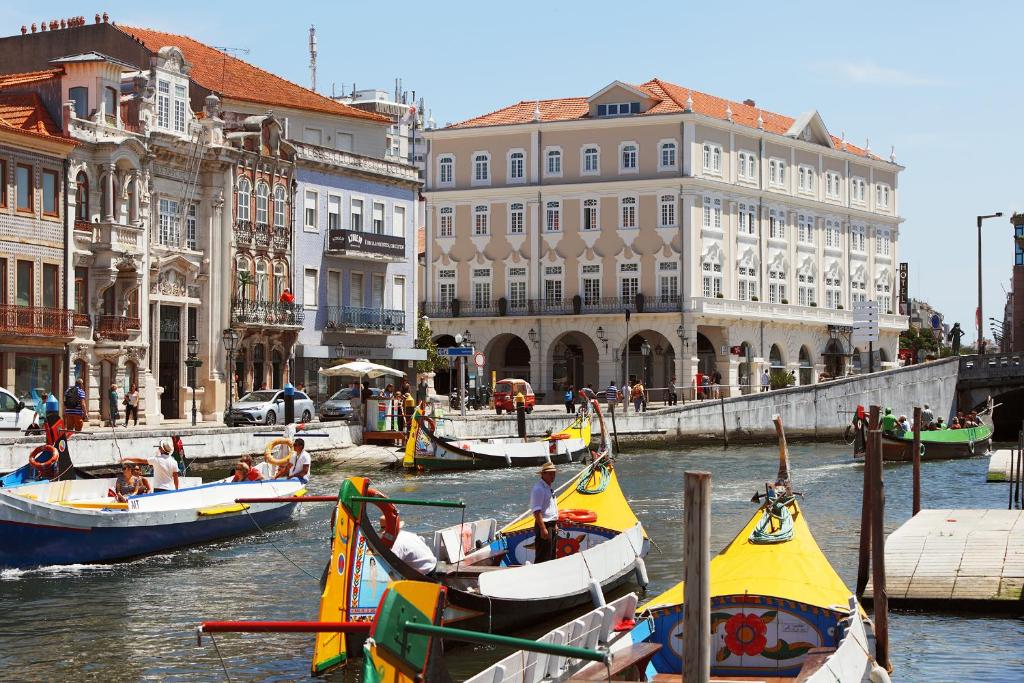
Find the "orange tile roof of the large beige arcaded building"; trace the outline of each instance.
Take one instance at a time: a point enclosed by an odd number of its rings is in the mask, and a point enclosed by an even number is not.
[[[758,128],[758,116],[764,122],[764,130],[769,133],[783,135],[795,119],[781,114],[774,114],[766,110],[743,104],[729,99],[709,95],[705,92],[691,90],[674,83],[669,83],[660,79],[651,79],[643,85],[632,86],[641,92],[647,93],[653,100],[653,105],[640,116],[656,116],[658,114],[681,114],[686,111],[687,97],[693,100],[693,112],[714,119],[725,120],[726,108],[732,111],[732,122],[746,126],[748,128]],[[587,97],[562,97],[559,99],[522,100],[510,106],[467,119],[449,128],[475,128],[481,126],[508,126],[515,124],[531,123],[535,121],[537,109],[541,110],[541,121],[573,121],[590,118],[590,102]],[[842,148],[843,141],[831,136],[833,143],[837,150]],[[868,155],[864,150],[846,143],[846,152],[858,157],[870,157],[878,159],[874,155]]]

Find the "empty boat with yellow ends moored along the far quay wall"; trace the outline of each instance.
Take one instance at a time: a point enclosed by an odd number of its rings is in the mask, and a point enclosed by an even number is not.
[[[590,413],[581,411],[561,431],[537,440],[521,438],[453,439],[436,433],[434,420],[414,422],[402,465],[417,470],[529,467],[584,460],[590,446]]]

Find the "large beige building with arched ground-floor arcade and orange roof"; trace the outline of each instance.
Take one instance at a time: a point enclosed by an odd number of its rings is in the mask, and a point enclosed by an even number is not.
[[[864,299],[876,368],[896,359],[903,169],[816,112],[615,81],[426,135],[425,312],[440,343],[468,330],[488,374],[549,401],[627,375],[811,383],[866,370],[850,343]]]

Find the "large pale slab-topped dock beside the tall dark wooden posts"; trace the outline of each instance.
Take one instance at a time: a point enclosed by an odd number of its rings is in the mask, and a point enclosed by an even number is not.
[[[891,606],[1024,612],[1024,511],[922,510],[886,540],[886,574]]]

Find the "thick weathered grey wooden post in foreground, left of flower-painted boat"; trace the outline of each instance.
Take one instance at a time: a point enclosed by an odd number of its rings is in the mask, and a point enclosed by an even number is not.
[[[711,472],[683,483],[683,680],[711,680]]]

